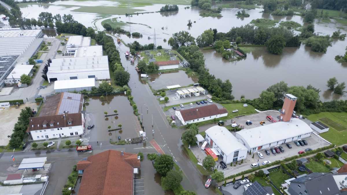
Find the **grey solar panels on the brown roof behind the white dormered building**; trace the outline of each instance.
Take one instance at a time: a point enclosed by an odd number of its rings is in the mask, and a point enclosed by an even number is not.
[[[64,96],[61,99],[59,114],[63,114],[65,112],[69,113],[78,113],[79,106],[81,103],[81,94],[73,94],[69,92],[64,92]]]

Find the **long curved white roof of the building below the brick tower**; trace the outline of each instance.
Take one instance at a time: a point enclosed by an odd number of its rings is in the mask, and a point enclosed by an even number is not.
[[[298,118],[292,118],[291,122],[280,121],[264,126],[244,129],[236,132],[236,135],[242,137],[249,145],[249,148],[255,148],[312,132],[311,127],[304,121]]]

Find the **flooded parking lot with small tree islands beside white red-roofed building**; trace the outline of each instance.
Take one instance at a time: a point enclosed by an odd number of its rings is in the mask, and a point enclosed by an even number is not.
[[[86,103],[86,112],[90,114],[91,122],[95,127],[90,131],[87,136],[90,136],[90,141],[106,141],[109,142],[112,139],[113,142],[118,141],[118,136],[122,140],[128,138],[138,137],[135,131],[134,120],[136,116],[133,114],[133,108],[130,106],[129,100],[125,95],[112,95],[106,96],[102,101],[100,97],[90,97]],[[109,115],[115,114],[113,110],[118,111],[117,116],[104,117],[104,112],[108,112]],[[108,132],[108,126],[111,129],[118,128],[118,125],[122,125],[122,130],[112,131],[111,135]]]

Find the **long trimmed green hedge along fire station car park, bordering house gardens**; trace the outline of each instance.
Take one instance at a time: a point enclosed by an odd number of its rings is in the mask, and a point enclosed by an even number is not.
[[[318,148],[316,150],[311,150],[311,151],[305,152],[303,154],[299,154],[299,155],[295,155],[295,156],[292,156],[292,157],[285,158],[283,160],[276,160],[276,161],[274,161],[274,162],[272,162],[270,164],[267,164],[267,165],[262,165],[260,167],[256,167],[256,168],[253,168],[253,169],[248,169],[248,170],[239,172],[238,174],[235,174],[235,175],[230,175],[229,177],[224,178],[224,180],[232,179],[234,177],[245,175],[245,174],[248,174],[248,173],[251,173],[251,172],[263,169],[263,168],[266,168],[266,167],[271,167],[273,165],[279,165],[280,163],[289,162],[291,160],[294,160],[294,159],[297,159],[297,158],[301,158],[301,157],[305,157],[305,156],[308,156],[308,155],[311,155],[311,154],[314,154],[314,153],[318,153],[318,152],[321,152],[323,150],[327,150],[327,149],[330,149],[330,148],[333,148],[333,147],[335,147],[335,145],[331,144],[331,145],[328,145],[326,147]]]

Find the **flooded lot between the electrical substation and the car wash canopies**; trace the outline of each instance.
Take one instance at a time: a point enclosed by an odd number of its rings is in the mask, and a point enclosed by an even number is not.
[[[189,77],[183,70],[174,70],[170,72],[164,72],[161,74],[149,74],[148,79],[142,80],[148,81],[149,85],[151,85],[153,89],[158,90],[166,89],[167,86],[172,85],[192,85],[197,81],[197,78]]]

